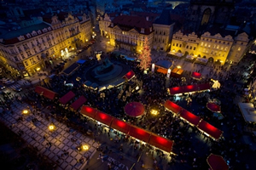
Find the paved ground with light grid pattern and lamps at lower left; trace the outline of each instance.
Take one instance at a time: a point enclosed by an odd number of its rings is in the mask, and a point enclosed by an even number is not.
[[[29,113],[18,122],[22,116],[22,111],[26,110],[28,105],[21,105],[17,101],[14,104],[16,105],[13,108],[14,114],[7,113],[0,119],[8,127],[12,127],[13,132],[20,134],[21,138],[26,140],[28,144],[36,147],[41,155],[48,156],[51,161],[57,162],[57,169],[82,169],[86,164],[85,157],[91,157],[95,154],[97,143],[93,139],[68,128],[54,118],[47,120]],[[42,114],[44,115],[44,113]],[[50,124],[55,126],[54,131],[49,130]],[[79,151],[77,147],[84,144],[89,147],[88,150]],[[66,150],[68,155],[65,155],[63,150]],[[84,158],[84,161],[78,162],[81,158]]]

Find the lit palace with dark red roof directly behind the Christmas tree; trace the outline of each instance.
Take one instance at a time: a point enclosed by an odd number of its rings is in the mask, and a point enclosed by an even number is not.
[[[100,30],[103,31],[102,28]],[[110,45],[140,53],[146,37],[148,38],[148,46],[152,48],[153,23],[144,17],[119,15],[111,20],[108,34]]]

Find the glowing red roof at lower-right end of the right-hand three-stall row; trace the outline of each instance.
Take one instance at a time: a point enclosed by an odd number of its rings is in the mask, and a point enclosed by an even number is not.
[[[221,130],[213,127],[210,123],[205,122],[204,120],[202,120],[197,127],[217,140],[221,137],[223,133]]]

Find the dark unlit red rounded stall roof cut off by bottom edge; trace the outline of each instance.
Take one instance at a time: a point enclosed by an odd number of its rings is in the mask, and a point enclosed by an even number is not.
[[[229,166],[226,161],[224,161],[222,156],[217,156],[210,154],[207,157],[207,163],[211,167],[212,170],[228,170]]]

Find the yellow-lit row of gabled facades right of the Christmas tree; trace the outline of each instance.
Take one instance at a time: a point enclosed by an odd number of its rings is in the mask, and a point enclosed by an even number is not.
[[[246,33],[238,34],[236,37],[220,34],[212,36],[205,32],[201,37],[195,33],[184,35],[181,31],[172,36],[172,52],[180,52],[195,57],[208,59],[209,61],[218,61],[221,64],[225,62],[238,63],[243,54],[247,51],[248,36]]]

